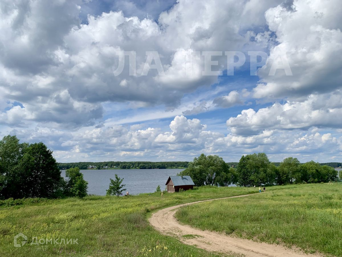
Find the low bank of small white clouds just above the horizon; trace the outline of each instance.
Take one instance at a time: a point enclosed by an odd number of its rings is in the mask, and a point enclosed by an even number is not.
[[[313,128],[300,130],[263,130],[257,135],[223,134],[207,129],[198,119],[176,116],[169,131],[160,127],[142,128],[110,125],[87,127],[68,132],[62,129],[36,127],[13,130],[19,138],[30,142],[44,140],[54,156],[64,162],[96,160],[192,160],[202,152],[218,154],[236,161],[242,154],[266,152],[271,160],[299,157],[301,161],[327,160],[341,145],[341,136]],[[341,151],[340,149],[339,151]]]

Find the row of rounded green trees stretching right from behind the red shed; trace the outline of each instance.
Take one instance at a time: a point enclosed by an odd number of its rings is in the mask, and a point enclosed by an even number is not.
[[[229,167],[217,155],[201,154],[179,175],[191,176],[196,186],[286,185],[339,180],[338,171],[331,166],[314,161],[302,164],[297,158],[288,157],[277,167],[263,152],[242,156],[236,168]],[[342,171],[339,176],[342,180]]]

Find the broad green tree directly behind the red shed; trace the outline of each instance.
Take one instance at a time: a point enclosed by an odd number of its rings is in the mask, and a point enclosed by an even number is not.
[[[198,158],[194,158],[194,161],[188,164],[188,168],[178,175],[191,176],[196,186],[218,185],[218,178],[222,178],[222,173],[227,170],[227,163],[221,157],[201,154]]]

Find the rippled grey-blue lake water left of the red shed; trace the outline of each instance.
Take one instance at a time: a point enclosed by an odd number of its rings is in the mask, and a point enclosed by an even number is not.
[[[124,188],[132,195],[155,192],[158,185],[165,189],[169,176],[175,176],[184,169],[153,170],[81,170],[84,180],[88,181],[88,194],[105,195],[109,187],[109,179],[115,174],[123,179]],[[65,178],[65,170],[61,174]],[[125,191],[126,193],[126,191]]]

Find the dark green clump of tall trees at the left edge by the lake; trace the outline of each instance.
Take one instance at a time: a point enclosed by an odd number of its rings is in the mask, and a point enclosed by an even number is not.
[[[0,141],[0,199],[83,197],[87,182],[81,175],[70,173],[65,181],[52,151],[42,142],[19,143],[10,135]]]

